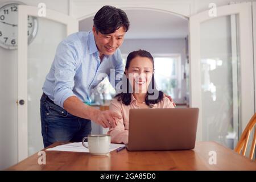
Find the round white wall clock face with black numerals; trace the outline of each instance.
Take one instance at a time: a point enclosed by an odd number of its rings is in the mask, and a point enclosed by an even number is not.
[[[0,7],[0,46],[6,49],[17,49],[18,46],[18,5],[9,3]],[[35,38],[38,20],[34,16],[27,17],[28,44]]]

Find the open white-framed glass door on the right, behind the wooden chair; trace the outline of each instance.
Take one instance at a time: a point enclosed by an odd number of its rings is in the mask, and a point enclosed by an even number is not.
[[[251,3],[217,7],[189,20],[191,106],[197,140],[229,148],[254,114]]]

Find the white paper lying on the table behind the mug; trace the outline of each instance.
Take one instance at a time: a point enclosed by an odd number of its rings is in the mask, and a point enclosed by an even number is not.
[[[85,142],[85,144],[88,145],[88,142]],[[110,144],[110,152],[113,150],[116,150],[119,147],[123,147],[125,144],[117,144],[117,143],[111,143]],[[67,152],[88,152],[89,149],[85,148],[82,145],[82,142],[74,142],[74,143],[67,143],[67,144],[61,144],[60,146],[56,146],[53,148],[47,148],[46,151],[67,151]]]

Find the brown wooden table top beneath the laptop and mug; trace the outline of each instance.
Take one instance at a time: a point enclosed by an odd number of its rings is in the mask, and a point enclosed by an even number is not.
[[[217,164],[209,164],[209,151],[216,151]],[[46,151],[46,165],[39,165],[38,158],[36,153],[7,170],[256,170],[255,161],[216,142],[197,142],[194,150],[122,150],[112,151],[109,156]]]

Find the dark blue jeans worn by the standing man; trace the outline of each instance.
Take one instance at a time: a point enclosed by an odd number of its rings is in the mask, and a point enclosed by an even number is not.
[[[68,113],[44,93],[40,100],[40,113],[44,147],[58,141],[81,142],[92,130],[89,119]]]

